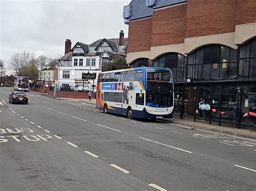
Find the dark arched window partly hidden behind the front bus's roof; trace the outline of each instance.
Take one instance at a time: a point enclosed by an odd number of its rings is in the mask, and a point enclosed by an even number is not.
[[[154,60],[153,67],[170,68],[173,81],[185,81],[186,77],[186,56],[179,53],[167,53]]]

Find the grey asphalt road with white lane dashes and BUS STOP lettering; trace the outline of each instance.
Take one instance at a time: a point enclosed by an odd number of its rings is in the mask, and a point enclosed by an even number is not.
[[[255,190],[256,140],[0,88],[0,190]],[[2,103],[2,104],[1,104]]]

